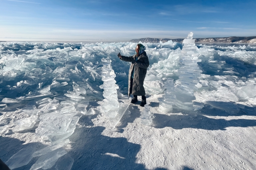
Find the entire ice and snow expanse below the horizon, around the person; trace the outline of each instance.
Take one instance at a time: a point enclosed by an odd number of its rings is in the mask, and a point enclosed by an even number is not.
[[[117,57],[137,43],[0,42],[0,159],[16,170],[255,169],[256,46],[191,38],[142,43],[145,108],[130,105],[130,63]]]

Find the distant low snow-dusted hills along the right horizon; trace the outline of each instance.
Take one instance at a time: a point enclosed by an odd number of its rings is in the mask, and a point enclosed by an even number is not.
[[[256,36],[249,37],[223,37],[223,38],[194,38],[195,42],[210,42],[210,43],[256,43]],[[182,42],[184,38],[170,39],[170,38],[140,38],[133,39],[130,42],[167,42],[168,40],[172,40],[173,42]]]

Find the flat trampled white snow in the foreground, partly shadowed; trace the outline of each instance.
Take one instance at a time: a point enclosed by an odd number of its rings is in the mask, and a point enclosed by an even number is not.
[[[70,144],[65,147],[74,158],[72,169],[253,170],[256,167],[256,107],[245,106],[238,114],[209,108],[196,115],[175,109],[166,114],[158,110],[160,96],[148,98],[156,116],[153,126],[140,124],[143,108],[137,105],[139,102],[129,106],[114,131],[108,126],[108,119],[100,114],[80,118]],[[98,106],[95,102],[91,104]],[[0,158],[6,161],[21,148],[47,144],[30,131],[2,136]],[[29,169],[35,161],[17,170]]]

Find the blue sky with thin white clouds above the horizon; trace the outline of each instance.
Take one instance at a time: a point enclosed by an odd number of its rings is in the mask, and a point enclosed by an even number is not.
[[[256,0],[0,0],[1,40],[256,36]]]

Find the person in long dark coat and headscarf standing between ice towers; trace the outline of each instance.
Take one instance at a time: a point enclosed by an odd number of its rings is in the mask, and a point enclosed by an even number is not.
[[[144,79],[147,74],[147,68],[149,66],[148,56],[145,52],[146,47],[142,44],[137,44],[136,46],[136,54],[130,57],[121,56],[118,53],[118,57],[120,60],[126,62],[132,62],[129,70],[128,76],[128,95],[133,94],[133,98],[131,103],[138,102],[138,96],[142,96],[142,101],[140,106],[144,107],[146,104],[146,92],[143,87]]]

